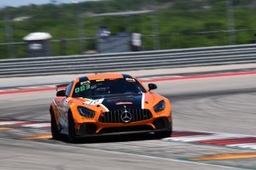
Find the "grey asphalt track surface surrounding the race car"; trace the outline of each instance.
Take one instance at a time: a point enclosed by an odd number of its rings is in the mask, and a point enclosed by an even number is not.
[[[173,106],[174,131],[256,136],[256,74],[156,82]],[[1,95],[0,119],[49,121],[54,91]],[[78,144],[51,140],[50,128],[0,126],[0,169],[256,169],[256,158],[191,160],[222,153],[255,153],[155,139],[102,136]],[[6,128],[6,129],[5,129]],[[42,139],[27,138],[45,135]],[[48,135],[48,136],[47,136]]]

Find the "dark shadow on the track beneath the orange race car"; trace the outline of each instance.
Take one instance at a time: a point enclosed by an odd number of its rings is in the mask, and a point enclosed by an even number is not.
[[[53,139],[50,139],[53,140]],[[87,136],[78,138],[75,144],[97,144],[97,143],[114,143],[114,142],[128,142],[138,140],[159,140],[154,133],[142,134],[122,134],[122,135],[108,135],[108,136]],[[67,136],[63,135],[59,141],[69,143]]]

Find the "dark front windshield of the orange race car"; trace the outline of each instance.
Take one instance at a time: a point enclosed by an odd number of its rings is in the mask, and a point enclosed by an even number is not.
[[[104,97],[119,93],[145,93],[146,90],[134,78],[102,79],[79,81],[73,92],[73,97]]]

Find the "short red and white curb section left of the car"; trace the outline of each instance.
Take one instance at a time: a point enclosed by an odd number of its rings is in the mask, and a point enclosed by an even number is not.
[[[35,121],[1,121],[0,126],[17,126],[23,128],[50,128],[50,122]]]

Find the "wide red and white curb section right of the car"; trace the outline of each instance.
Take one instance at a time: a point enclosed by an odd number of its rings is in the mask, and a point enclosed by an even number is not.
[[[256,149],[256,136],[230,133],[176,131],[171,137],[167,137],[162,140],[195,144],[213,144],[232,148]]]

